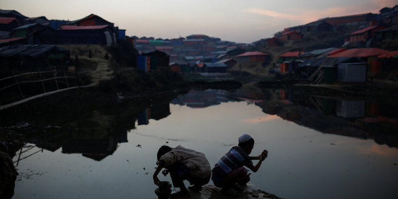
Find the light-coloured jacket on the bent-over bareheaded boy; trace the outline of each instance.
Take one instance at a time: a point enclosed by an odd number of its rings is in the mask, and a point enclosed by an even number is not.
[[[165,162],[164,167],[169,167],[175,163],[187,166],[193,177],[207,178],[211,175],[210,163],[208,163],[203,153],[186,149],[181,145],[164,154],[159,160]]]

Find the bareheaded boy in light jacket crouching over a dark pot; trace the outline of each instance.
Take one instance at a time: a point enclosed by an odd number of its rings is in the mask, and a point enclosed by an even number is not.
[[[158,151],[157,158],[159,165],[153,174],[155,185],[160,183],[158,174],[163,168],[166,168],[174,187],[180,188],[180,192],[172,194],[170,198],[189,198],[191,196],[184,185],[184,180],[188,180],[193,185],[189,189],[195,191],[201,190],[201,186],[210,181],[211,168],[203,153],[186,149],[180,145],[176,148],[162,146]]]

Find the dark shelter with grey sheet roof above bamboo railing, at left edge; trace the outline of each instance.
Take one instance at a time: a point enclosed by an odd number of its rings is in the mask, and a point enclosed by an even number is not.
[[[0,48],[2,75],[66,67],[69,51],[56,45],[12,45]],[[62,68],[65,69],[65,68]],[[17,72],[15,72],[17,73]]]

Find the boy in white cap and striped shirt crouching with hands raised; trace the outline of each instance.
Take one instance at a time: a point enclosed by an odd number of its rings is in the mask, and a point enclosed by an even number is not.
[[[264,150],[259,156],[249,156],[254,147],[254,139],[250,135],[243,134],[238,141],[238,146],[232,147],[222,156],[212,170],[211,180],[214,185],[222,188],[224,193],[230,195],[237,194],[236,191],[243,191],[241,186],[246,186],[246,183],[250,180],[250,174],[247,174],[248,170],[243,166],[257,172],[261,162],[268,156],[267,150]],[[259,162],[254,166],[252,160],[259,160]]]

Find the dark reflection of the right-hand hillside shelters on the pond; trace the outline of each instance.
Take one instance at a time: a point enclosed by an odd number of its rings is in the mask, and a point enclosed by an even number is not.
[[[274,99],[256,103],[268,114],[324,133],[374,139],[397,147],[398,112],[394,103],[382,99],[330,98],[266,90]],[[276,100],[275,97],[277,97]],[[383,110],[383,111],[382,111]]]

